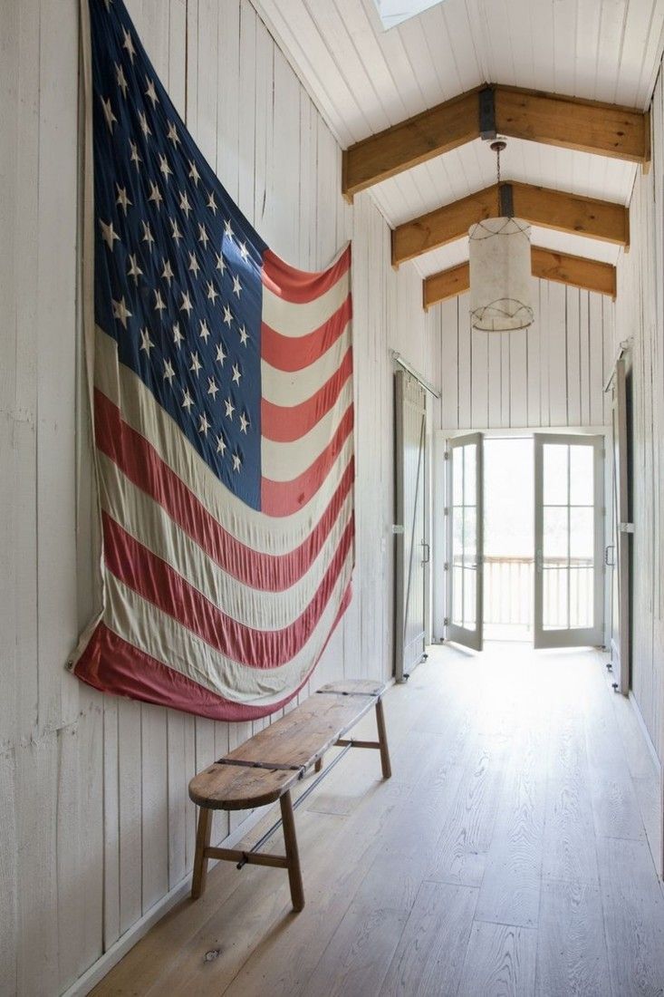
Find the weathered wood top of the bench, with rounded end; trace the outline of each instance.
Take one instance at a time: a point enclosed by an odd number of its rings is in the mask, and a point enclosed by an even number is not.
[[[366,679],[323,686],[198,773],[189,783],[189,797],[210,810],[246,810],[274,803],[375,706],[384,691],[383,683]]]

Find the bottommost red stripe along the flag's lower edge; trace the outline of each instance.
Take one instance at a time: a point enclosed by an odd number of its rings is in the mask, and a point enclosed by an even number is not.
[[[349,584],[323,651],[350,600]],[[106,624],[100,623],[76,663],[74,673],[83,682],[101,692],[115,696],[129,696],[158,706],[168,706],[173,710],[183,710],[199,717],[209,717],[210,720],[240,721],[268,717],[280,710],[306,685],[319,660],[320,656],[313,662],[310,671],[298,687],[278,703],[271,703],[268,706],[233,703],[198,685],[180,672],[168,668],[157,658],[119,637]]]

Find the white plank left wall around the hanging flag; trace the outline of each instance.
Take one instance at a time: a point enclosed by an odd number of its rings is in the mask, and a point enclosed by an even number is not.
[[[314,683],[387,675],[388,351],[436,380],[421,280],[393,271],[371,198],[341,198],[339,148],[247,0],[130,10],[204,154],[274,250],[320,268],[354,237],[358,563]],[[188,779],[250,726],[104,697],[65,671],[92,613],[96,550],[77,299],[78,0],[0,0],[0,23],[0,992],[37,995],[65,990],[186,874]],[[226,831],[220,816],[215,834]]]

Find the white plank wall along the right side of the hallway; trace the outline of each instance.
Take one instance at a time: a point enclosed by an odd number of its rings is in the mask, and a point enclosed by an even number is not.
[[[632,691],[662,759],[664,621],[664,95],[660,75],[652,103],[653,164],[636,177],[630,203],[631,249],[618,261],[614,352],[632,339],[634,440],[634,621]]]

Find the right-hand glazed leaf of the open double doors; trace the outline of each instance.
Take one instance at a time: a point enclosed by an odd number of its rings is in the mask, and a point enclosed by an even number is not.
[[[534,435],[534,646],[603,644],[603,437]]]

